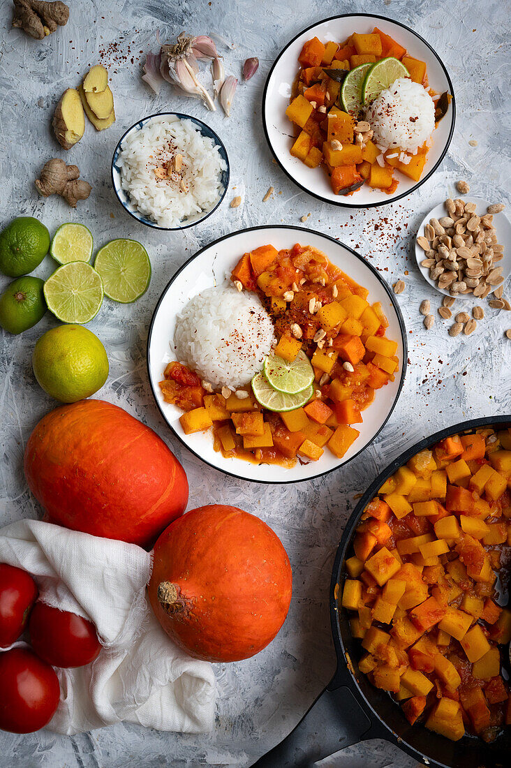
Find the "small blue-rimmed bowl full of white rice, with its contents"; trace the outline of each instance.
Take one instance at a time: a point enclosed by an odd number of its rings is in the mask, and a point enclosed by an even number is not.
[[[128,128],[111,162],[114,192],[147,227],[182,230],[217,209],[229,184],[223,142],[191,115],[163,112]]]

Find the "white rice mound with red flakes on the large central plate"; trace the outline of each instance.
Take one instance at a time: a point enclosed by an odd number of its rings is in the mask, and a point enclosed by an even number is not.
[[[231,287],[194,296],[174,333],[176,357],[214,387],[248,384],[274,342],[274,326],[257,296]]]

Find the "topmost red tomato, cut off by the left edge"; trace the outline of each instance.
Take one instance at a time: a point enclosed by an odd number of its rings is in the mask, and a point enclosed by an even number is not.
[[[0,648],[18,640],[38,589],[30,574],[14,565],[0,563]]]

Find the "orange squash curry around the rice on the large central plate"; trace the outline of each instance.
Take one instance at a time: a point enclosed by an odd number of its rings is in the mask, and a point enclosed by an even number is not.
[[[250,386],[243,399],[235,392],[226,398],[170,362],[160,387],[167,402],[185,411],[184,432],[213,428],[215,450],[257,464],[317,461],[325,448],[341,458],[360,435],[353,425],[362,422],[375,389],[393,381],[399,368],[380,303],[371,306],[369,292],[324,253],[298,244],[245,253],[231,279],[260,297],[274,321],[275,353],[292,361],[303,349],[310,358],[314,396],[303,408],[272,412],[261,408]]]

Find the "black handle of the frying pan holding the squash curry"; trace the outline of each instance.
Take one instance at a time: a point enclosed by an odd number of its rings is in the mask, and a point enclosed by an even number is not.
[[[297,727],[260,757],[253,768],[310,768],[317,760],[345,746],[388,736],[380,723],[371,722],[350,689],[344,685],[337,687],[334,680],[317,697]]]

